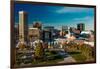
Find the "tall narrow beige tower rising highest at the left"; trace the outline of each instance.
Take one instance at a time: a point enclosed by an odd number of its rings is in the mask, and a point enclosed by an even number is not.
[[[28,25],[27,25],[27,13],[19,11],[19,41],[27,42]]]

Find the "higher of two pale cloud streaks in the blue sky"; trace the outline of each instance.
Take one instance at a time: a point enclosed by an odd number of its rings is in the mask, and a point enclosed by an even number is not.
[[[78,12],[88,12],[90,9],[88,8],[80,8],[80,7],[64,7],[57,10],[57,13],[78,13]]]

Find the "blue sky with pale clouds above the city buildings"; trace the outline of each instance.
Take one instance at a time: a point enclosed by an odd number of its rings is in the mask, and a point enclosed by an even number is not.
[[[46,4],[14,4],[14,21],[19,22],[19,11],[25,11],[28,15],[28,25],[40,21],[43,26],[77,27],[78,23],[84,23],[86,30],[94,30],[94,8],[54,6]]]

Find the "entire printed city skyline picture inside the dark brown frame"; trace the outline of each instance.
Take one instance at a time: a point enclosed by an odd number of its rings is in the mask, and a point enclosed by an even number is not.
[[[16,2],[13,11],[13,67],[95,62],[94,7]]]

